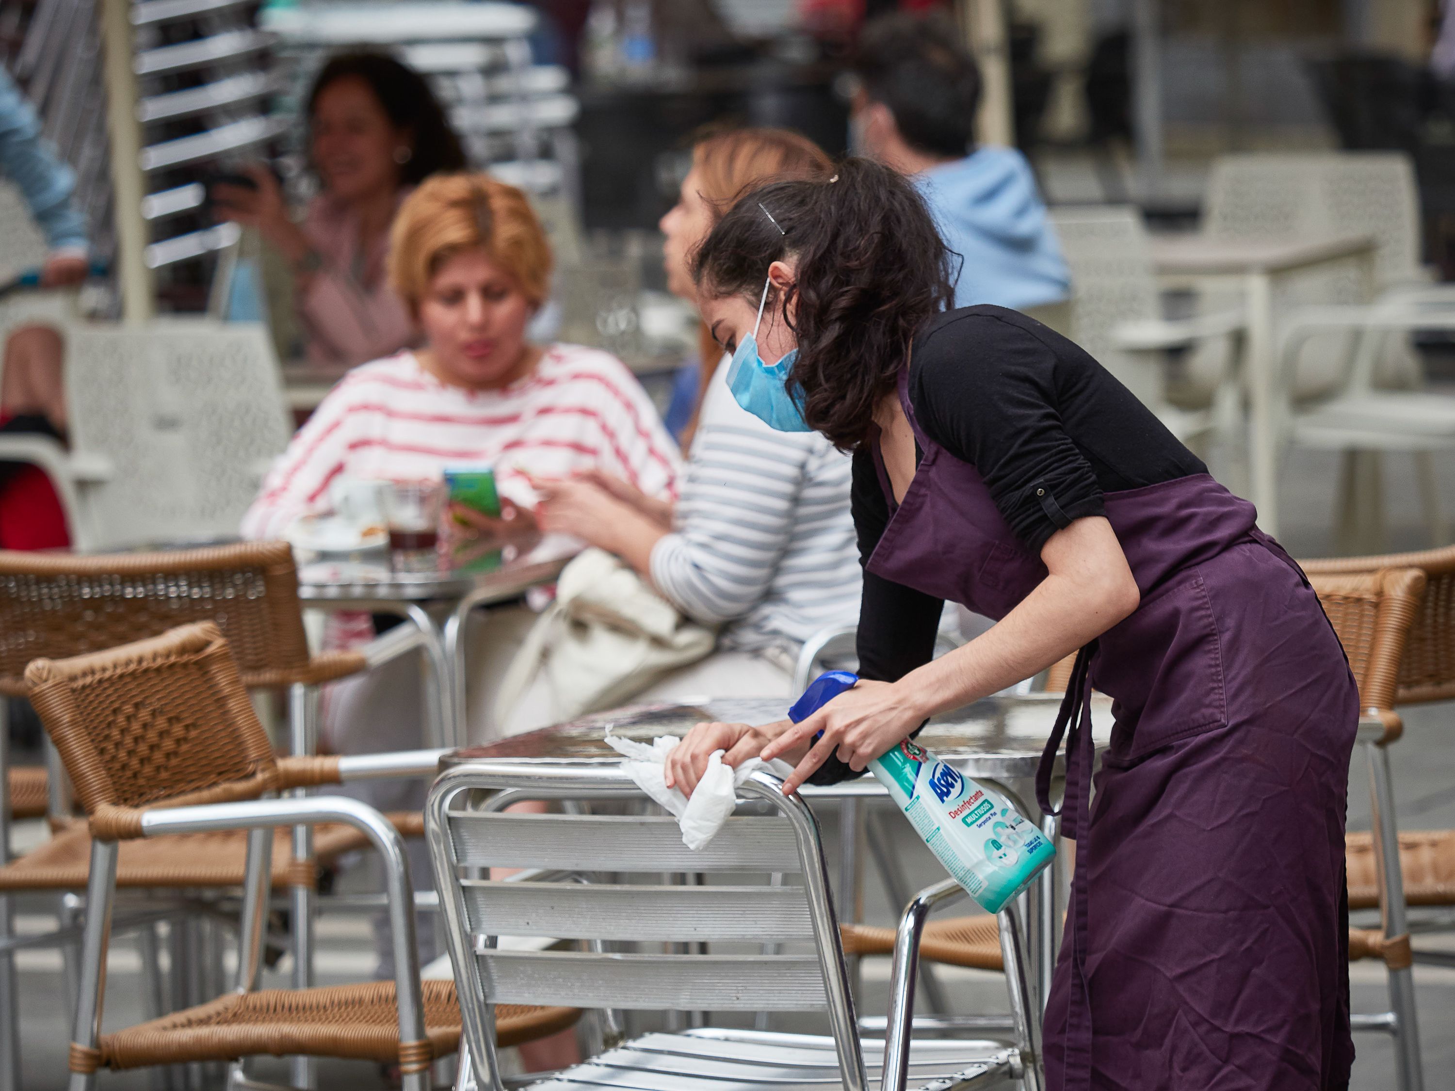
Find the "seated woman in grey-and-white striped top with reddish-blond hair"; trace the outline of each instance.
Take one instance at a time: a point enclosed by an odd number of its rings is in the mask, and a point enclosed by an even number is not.
[[[773,179],[826,179],[828,156],[794,132],[746,128],[704,137],[677,205],[662,217],[668,288],[695,303],[691,260],[748,189]],[[646,688],[787,697],[803,642],[853,624],[860,569],[848,511],[850,460],[813,433],[776,432],[744,410],[711,335],[707,380],[675,505],[604,473],[538,481],[537,518],[615,553],[682,614],[723,626],[717,650]],[[527,694],[506,730],[549,720]]]

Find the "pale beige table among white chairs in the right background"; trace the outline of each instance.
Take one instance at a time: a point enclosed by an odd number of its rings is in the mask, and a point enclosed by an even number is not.
[[[1273,279],[1330,262],[1356,260],[1365,298],[1374,295],[1375,239],[1212,239],[1203,234],[1152,236],[1152,265],[1164,281],[1237,282],[1247,307],[1248,461],[1259,525],[1277,535],[1277,358],[1273,345]]]

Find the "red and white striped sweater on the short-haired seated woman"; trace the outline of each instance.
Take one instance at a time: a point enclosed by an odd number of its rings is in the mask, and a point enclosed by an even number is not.
[[[598,468],[649,496],[677,497],[681,460],[656,409],[615,356],[546,349],[535,372],[503,390],[441,383],[412,352],[351,371],[288,444],[243,516],[243,537],[276,538],[329,509],[336,477],[416,480],[447,463],[490,461],[505,496],[533,506],[521,471],[565,477]]]

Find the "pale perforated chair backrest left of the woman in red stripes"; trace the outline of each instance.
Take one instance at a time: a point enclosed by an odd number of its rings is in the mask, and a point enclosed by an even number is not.
[[[268,330],[166,320],[67,333],[65,393],[87,548],[237,534],[288,445]]]

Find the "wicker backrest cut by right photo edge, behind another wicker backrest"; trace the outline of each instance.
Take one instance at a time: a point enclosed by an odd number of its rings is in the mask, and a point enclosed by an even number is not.
[[[1455,546],[1376,557],[1324,557],[1301,564],[1317,580],[1381,569],[1420,569],[1426,578],[1424,595],[1400,659],[1395,700],[1416,704],[1455,697]]]

